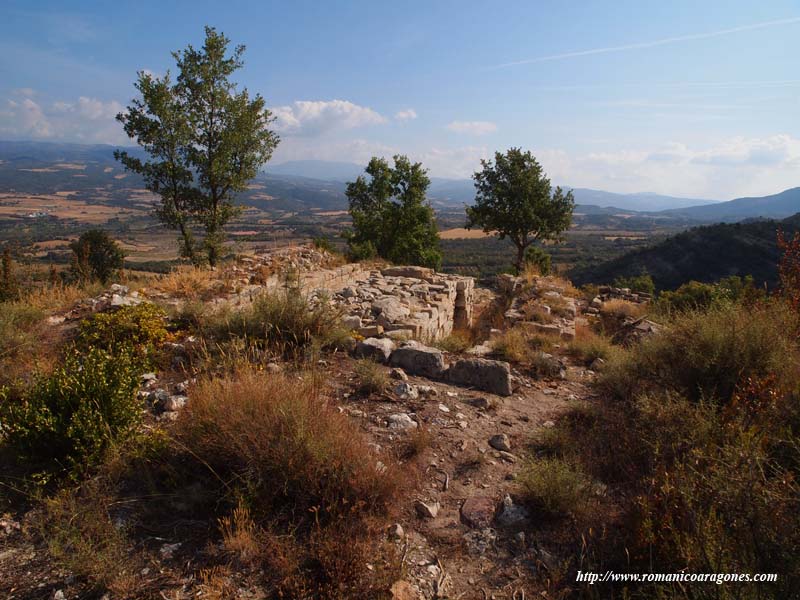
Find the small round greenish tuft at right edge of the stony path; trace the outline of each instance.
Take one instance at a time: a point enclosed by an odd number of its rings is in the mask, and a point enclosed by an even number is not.
[[[559,458],[529,460],[518,481],[525,499],[553,516],[579,509],[587,498],[585,475]]]

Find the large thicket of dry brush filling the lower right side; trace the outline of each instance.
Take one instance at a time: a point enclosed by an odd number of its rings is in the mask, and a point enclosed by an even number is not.
[[[691,597],[792,597],[800,585],[796,322],[780,302],[713,306],[680,314],[612,359],[607,397],[567,413],[553,434],[569,449],[557,456],[614,486],[617,516],[594,517],[579,568],[779,573],[769,587],[698,584]],[[641,586],[634,597],[684,591]]]

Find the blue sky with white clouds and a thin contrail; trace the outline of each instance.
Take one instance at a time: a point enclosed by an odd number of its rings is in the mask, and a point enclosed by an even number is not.
[[[405,153],[434,176],[528,148],[561,184],[697,198],[800,185],[800,4],[17,2],[0,138],[127,143],[136,71],[203,26],[278,116],[274,161]]]

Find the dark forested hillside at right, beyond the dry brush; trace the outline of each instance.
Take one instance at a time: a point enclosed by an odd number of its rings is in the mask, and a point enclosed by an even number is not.
[[[713,282],[729,275],[752,275],[758,285],[777,283],[780,258],[776,231],[800,231],[800,214],[782,221],[722,223],[695,227],[655,246],[630,252],[591,268],[574,270],[579,285],[610,283],[616,277],[649,273],[659,289],[690,280]]]

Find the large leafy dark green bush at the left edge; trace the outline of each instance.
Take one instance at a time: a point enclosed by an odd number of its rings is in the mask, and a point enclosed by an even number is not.
[[[0,391],[6,442],[46,472],[76,474],[97,464],[139,424],[140,373],[131,350],[69,352],[63,366],[29,388]]]

